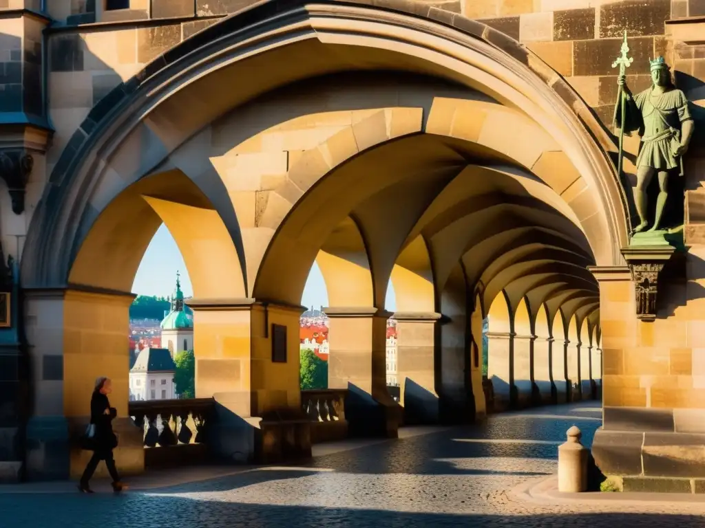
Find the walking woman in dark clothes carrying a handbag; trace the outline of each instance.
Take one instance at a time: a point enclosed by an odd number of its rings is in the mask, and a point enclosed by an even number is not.
[[[112,425],[117,413],[115,408],[110,406],[110,401],[108,400],[108,394],[112,391],[113,384],[110,379],[99,377],[95,380],[95,389],[90,400],[90,422],[95,426],[91,446],[93,456],[88,462],[78,485],[78,489],[85,494],[93,493],[88,482],[101,460],[105,460],[105,465],[108,467],[108,472],[113,479],[113,489],[115,491],[123,491],[128,487],[120,482],[113,458],[113,449],[118,446],[118,439],[113,432]]]

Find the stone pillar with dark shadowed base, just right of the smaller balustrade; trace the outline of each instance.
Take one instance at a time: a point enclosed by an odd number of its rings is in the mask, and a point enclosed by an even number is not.
[[[396,438],[401,410],[386,386],[386,329],[391,316],[376,308],[324,308],[329,317],[329,389],[348,389],[351,435]],[[397,348],[397,365],[403,353]]]

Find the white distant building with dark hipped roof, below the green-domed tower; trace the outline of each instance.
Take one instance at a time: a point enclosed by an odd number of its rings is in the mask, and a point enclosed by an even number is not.
[[[176,398],[176,364],[166,348],[143,348],[130,369],[130,401]]]

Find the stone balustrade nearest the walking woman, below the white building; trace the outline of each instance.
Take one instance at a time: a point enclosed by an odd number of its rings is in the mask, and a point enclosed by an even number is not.
[[[213,398],[130,401],[130,416],[144,432],[145,465],[204,462],[214,406]]]

